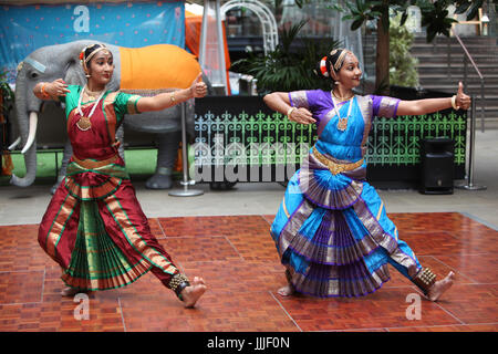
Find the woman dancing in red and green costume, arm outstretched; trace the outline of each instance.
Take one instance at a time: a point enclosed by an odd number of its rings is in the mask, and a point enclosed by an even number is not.
[[[200,73],[191,86],[152,97],[111,92],[113,55],[103,44],[83,49],[84,87],[61,79],[38,83],[42,100],[65,103],[68,135],[73,147],[65,179],[55,191],[39,229],[39,242],[58,262],[68,285],[63,295],[125,287],[147,271],[194,306],[206,291],[201,278],[187,279],[152,235],[115,138],[125,114],[159,111],[204,97]]]

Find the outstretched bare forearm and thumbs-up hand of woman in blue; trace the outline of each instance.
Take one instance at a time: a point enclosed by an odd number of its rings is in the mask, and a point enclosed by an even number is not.
[[[452,102],[455,100],[455,102]],[[452,107],[468,110],[470,106],[470,97],[464,93],[464,85],[458,83],[458,92],[453,97],[447,98],[425,98],[415,101],[401,101],[397,106],[396,115],[422,115]]]

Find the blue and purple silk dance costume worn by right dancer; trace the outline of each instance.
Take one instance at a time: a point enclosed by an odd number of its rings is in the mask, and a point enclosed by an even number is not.
[[[375,116],[394,117],[400,100],[359,96],[340,104],[347,127],[338,127],[331,92],[289,93],[291,105],[305,107],[317,119],[318,142],[290,179],[271,226],[288,278],[300,293],[359,296],[390,279],[387,263],[412,279],[421,264],[398,239],[384,202],[365,180],[366,142]],[[320,158],[319,158],[320,157]],[[325,162],[355,167],[332,171]]]

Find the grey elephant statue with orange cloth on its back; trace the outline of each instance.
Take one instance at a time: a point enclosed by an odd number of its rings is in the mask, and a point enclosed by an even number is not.
[[[17,126],[27,174],[23,178],[12,175],[11,184],[20,187],[30,186],[37,174],[37,124],[42,101],[33,94],[38,82],[51,82],[63,79],[68,84],[84,85],[86,79],[80,64],[79,54],[86,45],[95,41],[74,41],[65,44],[40,48],[28,55],[18,66],[15,79],[15,111]],[[143,96],[160,92],[185,88],[190,85],[200,71],[195,56],[185,50],[170,44],[156,44],[144,48],[123,48],[104,43],[113,53],[114,74],[107,88],[122,90]],[[208,84],[208,94],[212,87],[207,77],[203,80]],[[194,100],[186,103],[187,136],[194,132]],[[177,157],[178,145],[181,139],[181,108],[180,105],[159,112],[146,112],[126,115],[124,126],[138,132],[157,135],[157,166],[155,174],[147,179],[146,187],[152,189],[167,189],[172,187],[172,171]],[[116,137],[124,138],[123,125],[116,132]],[[15,143],[11,146],[17,145]],[[120,154],[124,158],[124,145],[121,144]],[[55,190],[65,176],[65,167],[72,148],[65,143],[63,162],[59,170]]]

